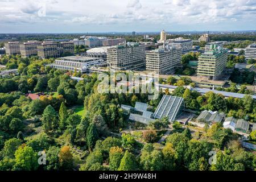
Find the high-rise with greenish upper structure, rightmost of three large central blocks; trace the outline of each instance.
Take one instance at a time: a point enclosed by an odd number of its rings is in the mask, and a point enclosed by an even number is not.
[[[228,51],[217,44],[212,44],[209,51],[205,51],[198,58],[197,76],[207,78],[207,80],[216,80],[226,67]]]

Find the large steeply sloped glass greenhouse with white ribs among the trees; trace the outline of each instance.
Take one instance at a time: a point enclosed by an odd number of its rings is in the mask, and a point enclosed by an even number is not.
[[[174,122],[184,108],[185,103],[182,97],[164,95],[153,116],[155,119],[168,117],[170,122]]]

